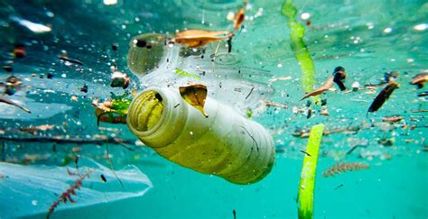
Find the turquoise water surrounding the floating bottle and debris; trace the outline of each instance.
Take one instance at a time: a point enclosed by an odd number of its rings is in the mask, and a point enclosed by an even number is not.
[[[164,160],[151,149],[135,145],[136,138],[125,124],[101,123],[104,128],[98,128],[91,105],[95,97],[106,99],[110,92],[124,93],[122,88],[109,87],[110,67],[115,62],[117,69],[131,77],[128,90],[144,88],[126,64],[128,43],[134,36],[146,32],[173,34],[185,28],[231,31],[228,13],[237,12],[243,5],[233,0],[118,0],[116,5],[96,0],[0,1],[0,60],[23,80],[21,89],[7,97],[32,110],[32,114],[26,114],[13,106],[0,105],[2,161],[43,169],[40,165],[73,167],[73,158],[79,156],[80,160],[95,160],[109,167],[105,156],[108,145],[115,169],[135,165],[152,183],[142,196],[111,202],[100,197],[93,198],[91,205],[83,205],[88,199],[78,196],[77,203],[60,205],[52,218],[234,218],[234,210],[237,218],[296,218],[305,156],[301,150],[308,141],[298,131],[325,123],[328,130],[355,129],[322,138],[314,192],[315,218],[426,218],[427,122],[426,112],[417,112],[428,108],[426,96],[417,96],[426,87],[417,89],[409,83],[415,75],[428,71],[428,4],[405,0],[294,1],[299,17],[311,14],[311,23],[302,18],[298,22],[306,29],[304,40],[316,69],[315,87],[321,87],[337,66],[346,68],[348,89],[356,81],[361,86],[382,83],[386,72],[399,74],[395,81],[400,87],[376,113],[367,115],[368,107],[386,84],[350,93],[335,86],[336,90],[321,95],[327,100],[330,115],[321,115],[321,106],[312,104],[309,119],[307,102],[300,101],[304,96],[302,74],[290,46],[282,4],[276,0],[249,1],[247,19],[232,41],[233,56],[217,61],[220,69],[249,69],[242,80],[250,79],[274,90],[271,96],[258,94],[256,101],[288,106],[258,107],[261,114],[252,118],[273,135],[276,149],[274,168],[260,182],[235,185]],[[43,27],[31,30],[23,21]],[[112,50],[115,43],[117,50]],[[22,59],[11,55],[17,44],[25,47]],[[62,50],[83,65],[59,59]],[[48,74],[53,78],[47,78]],[[0,79],[5,81],[10,75],[2,70]],[[289,78],[272,80],[279,77]],[[85,84],[88,93],[79,90]],[[293,112],[296,109],[302,113]],[[403,120],[382,122],[390,115],[401,115]],[[45,131],[28,131],[43,124],[53,126]],[[58,141],[99,135],[125,139],[126,146],[116,141]],[[356,150],[349,152],[355,146]],[[322,172],[340,160],[364,162],[370,168],[323,178]],[[0,171],[0,186],[10,180],[4,173]],[[106,185],[119,193],[134,189],[127,186],[125,178],[124,183],[125,190],[112,177],[107,178]],[[47,208],[33,208],[51,204],[61,191],[47,198],[25,187],[0,187],[0,217],[45,217]],[[21,193],[25,201],[7,199]]]

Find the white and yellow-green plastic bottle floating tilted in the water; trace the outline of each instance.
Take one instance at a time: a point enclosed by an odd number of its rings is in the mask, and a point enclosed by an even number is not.
[[[274,165],[265,128],[207,97],[205,117],[177,89],[151,87],[135,96],[127,125],[163,158],[237,184],[259,181]]]

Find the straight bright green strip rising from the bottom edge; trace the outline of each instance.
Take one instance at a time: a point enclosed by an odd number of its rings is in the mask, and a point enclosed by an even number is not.
[[[315,187],[315,173],[317,170],[318,151],[320,151],[322,132],[324,124],[312,126],[306,146],[307,155],[303,159],[302,173],[300,175],[298,200],[298,214],[300,219],[312,218],[313,213],[313,190]]]

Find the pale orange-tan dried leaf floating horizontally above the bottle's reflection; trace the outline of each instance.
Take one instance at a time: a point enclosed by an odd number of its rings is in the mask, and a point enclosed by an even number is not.
[[[233,37],[233,32],[209,32],[202,30],[188,30],[175,33],[173,41],[178,43],[188,44],[189,47],[199,47],[209,42],[220,41]]]

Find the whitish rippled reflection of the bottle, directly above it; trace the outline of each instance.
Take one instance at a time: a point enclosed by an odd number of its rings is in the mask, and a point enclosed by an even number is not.
[[[149,41],[150,50],[135,41]],[[263,112],[261,100],[274,94],[265,82],[273,75],[263,68],[247,67],[245,58],[228,52],[219,43],[209,43],[202,49],[186,48],[176,43],[165,45],[162,34],[147,33],[130,41],[128,68],[146,87],[185,87],[202,84],[208,96],[229,105],[242,115],[251,109]],[[178,69],[178,70],[177,70]],[[184,72],[185,74],[179,74]]]

